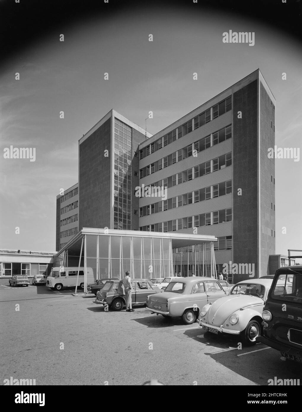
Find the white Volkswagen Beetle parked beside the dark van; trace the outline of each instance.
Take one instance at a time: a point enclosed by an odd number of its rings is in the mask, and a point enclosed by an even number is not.
[[[206,304],[199,315],[199,325],[219,335],[238,335],[248,345],[262,333],[262,309],[272,279],[245,280],[236,283],[229,295]]]

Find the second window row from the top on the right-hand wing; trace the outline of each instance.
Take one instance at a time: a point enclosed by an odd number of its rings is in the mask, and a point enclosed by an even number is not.
[[[218,143],[221,143],[231,137],[232,125],[223,127],[215,133],[211,133],[211,135],[197,140],[196,142],[171,153],[171,155],[163,157],[162,159],[159,159],[156,162],[143,167],[142,169],[140,169],[140,178],[144,178],[145,176],[164,169],[165,167],[171,166],[171,164],[180,162],[183,159],[187,159],[188,157],[193,155],[193,150],[196,150],[196,152],[201,152],[202,150],[217,145]]]

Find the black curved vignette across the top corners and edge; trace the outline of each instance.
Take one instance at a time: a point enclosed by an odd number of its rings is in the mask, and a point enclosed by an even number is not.
[[[302,40],[302,0],[0,0],[0,65],[62,26],[83,23],[93,16],[101,22],[119,12],[135,14],[136,9],[145,9],[147,13],[154,8],[159,12],[234,13]]]

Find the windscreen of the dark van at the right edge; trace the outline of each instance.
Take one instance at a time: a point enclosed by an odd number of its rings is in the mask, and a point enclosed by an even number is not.
[[[302,274],[282,274],[272,286],[270,296],[274,300],[302,303]]]

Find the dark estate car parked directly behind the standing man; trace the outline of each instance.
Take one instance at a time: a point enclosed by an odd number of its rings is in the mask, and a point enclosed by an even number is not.
[[[96,294],[96,304],[107,304],[112,307],[113,310],[122,310],[126,304],[126,296],[117,293],[117,288],[121,281],[107,281],[101,290],[98,290]],[[147,302],[148,295],[155,293],[161,293],[162,290],[155,286],[147,279],[132,279],[132,305],[143,305]]]

